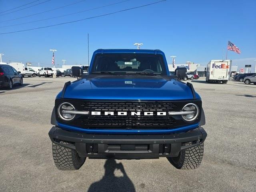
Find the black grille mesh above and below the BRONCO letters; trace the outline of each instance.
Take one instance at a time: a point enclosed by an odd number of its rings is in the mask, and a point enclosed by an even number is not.
[[[130,112],[168,112],[175,110],[171,102],[83,102],[85,111],[115,112],[114,116],[84,116],[82,126],[89,128],[170,128],[175,120],[170,116],[131,116]],[[116,113],[127,112],[127,116]]]

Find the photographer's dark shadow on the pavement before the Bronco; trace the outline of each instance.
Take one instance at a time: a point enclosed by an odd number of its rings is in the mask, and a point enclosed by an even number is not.
[[[122,163],[116,163],[116,160],[108,159],[104,168],[104,176],[100,181],[91,184],[88,192],[135,192],[134,184],[126,174]],[[123,176],[115,176],[115,170],[120,170]]]

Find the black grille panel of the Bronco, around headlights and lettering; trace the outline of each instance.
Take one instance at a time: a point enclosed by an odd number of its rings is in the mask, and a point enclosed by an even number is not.
[[[96,100],[56,100],[56,106],[62,102],[70,102],[78,111],[89,111],[89,115],[76,115],[74,120],[63,122],[85,129],[172,129],[198,122],[185,122],[181,116],[169,116],[169,111],[180,111],[186,103],[194,102],[201,108],[201,101],[96,101]],[[91,112],[100,112],[92,115]],[[114,112],[114,115],[104,115],[105,112]],[[118,112],[127,112],[120,116]],[[132,115],[140,112],[140,115]],[[152,116],[144,115],[153,112]],[[166,112],[158,116],[157,112]],[[62,122],[56,112],[57,121]]]

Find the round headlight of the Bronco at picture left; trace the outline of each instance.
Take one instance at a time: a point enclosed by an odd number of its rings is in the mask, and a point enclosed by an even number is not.
[[[76,110],[75,107],[68,102],[62,103],[58,106],[58,115],[59,117],[64,121],[70,121],[75,118],[75,114],[68,113],[68,111],[74,111]]]

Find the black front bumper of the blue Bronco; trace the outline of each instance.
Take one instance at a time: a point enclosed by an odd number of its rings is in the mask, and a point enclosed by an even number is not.
[[[143,159],[178,156],[181,150],[204,142],[207,134],[202,127],[178,134],[104,135],[70,132],[54,126],[49,136],[52,142],[76,150],[79,156]],[[60,141],[70,144],[63,144]],[[184,146],[188,142],[191,142],[190,145]]]

